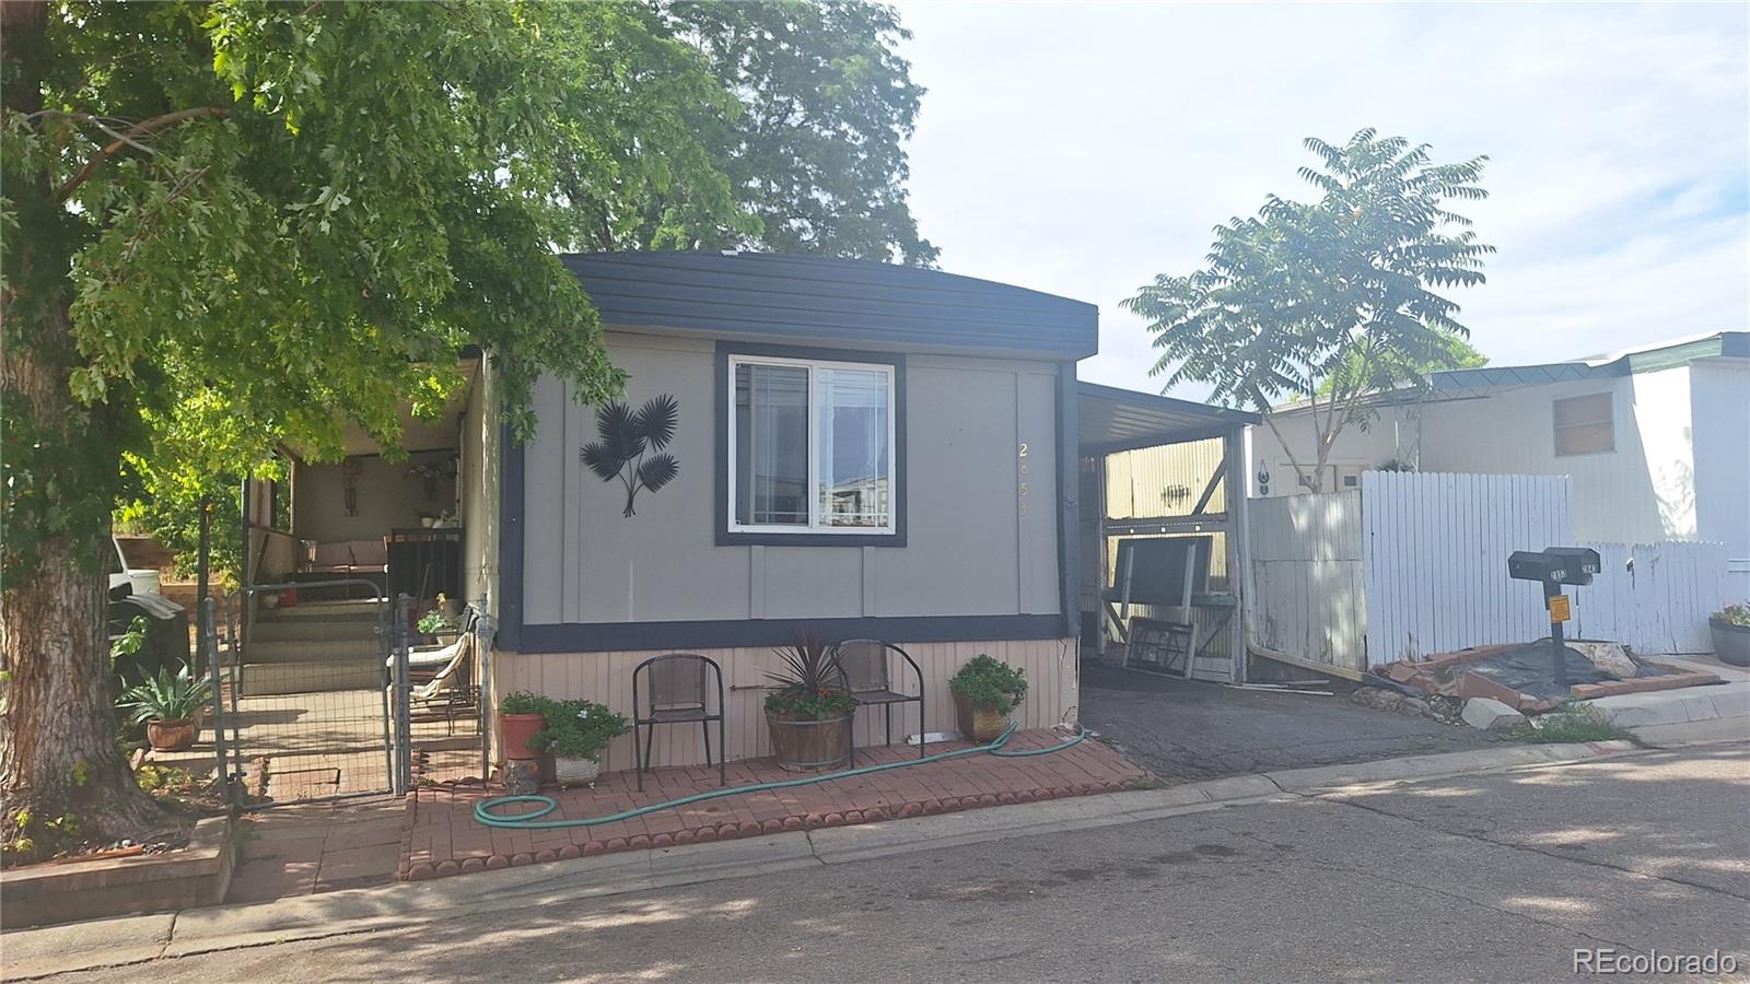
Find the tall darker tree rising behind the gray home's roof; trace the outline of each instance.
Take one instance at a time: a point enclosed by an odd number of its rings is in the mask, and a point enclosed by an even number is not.
[[[894,51],[910,33],[891,7],[859,0],[660,0],[735,105],[691,117],[752,224],[716,215],[684,180],[642,177],[634,212],[602,214],[586,249],[765,249],[931,266],[906,198],[905,140],[924,89]],[[662,179],[662,180],[658,180]]]

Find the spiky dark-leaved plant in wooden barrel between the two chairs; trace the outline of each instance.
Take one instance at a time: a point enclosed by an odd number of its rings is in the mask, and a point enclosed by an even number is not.
[[[779,769],[808,772],[844,765],[850,758],[858,699],[845,686],[831,644],[803,632],[794,644],[772,651],[782,667],[766,674],[772,692],[765,713]]]

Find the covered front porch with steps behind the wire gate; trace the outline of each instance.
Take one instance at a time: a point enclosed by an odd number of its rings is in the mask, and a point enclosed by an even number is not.
[[[497,520],[497,413],[480,357],[438,417],[401,406],[402,452],[348,427],[340,460],[285,448],[243,496],[242,588],[217,599],[215,755],[275,804],[483,776],[485,560]],[[219,532],[215,531],[215,536]],[[472,560],[471,560],[472,559]],[[397,623],[399,620],[399,623]],[[408,655],[397,720],[396,644]]]

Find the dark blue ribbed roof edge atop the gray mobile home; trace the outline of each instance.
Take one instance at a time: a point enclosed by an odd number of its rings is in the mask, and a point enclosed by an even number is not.
[[[1099,350],[1094,305],[940,270],[765,252],[560,259],[609,327],[1050,359]]]

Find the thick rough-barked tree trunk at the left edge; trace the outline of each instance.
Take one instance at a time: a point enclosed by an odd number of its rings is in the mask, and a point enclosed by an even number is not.
[[[52,56],[44,16],[42,4],[0,5],[9,114],[42,109],[37,79]],[[70,219],[47,173],[5,177],[19,235],[5,257],[0,427],[9,431],[9,478],[30,480],[5,494],[32,496],[9,503],[12,548],[0,592],[0,842],[12,863],[68,844],[145,840],[178,818],[140,791],[116,748],[102,564],[116,424],[103,408],[77,406],[68,390],[77,359]]]

